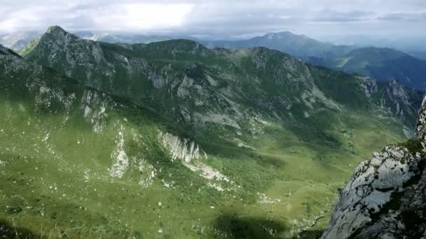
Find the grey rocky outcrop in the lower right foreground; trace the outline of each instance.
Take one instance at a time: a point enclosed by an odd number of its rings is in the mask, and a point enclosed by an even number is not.
[[[426,238],[425,101],[414,138],[359,164],[322,238]]]

